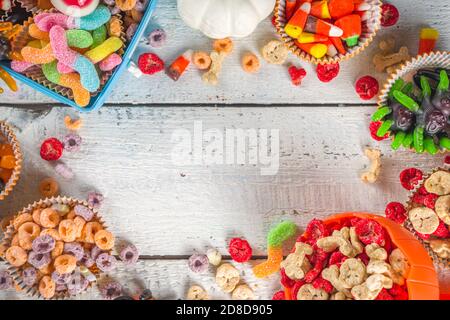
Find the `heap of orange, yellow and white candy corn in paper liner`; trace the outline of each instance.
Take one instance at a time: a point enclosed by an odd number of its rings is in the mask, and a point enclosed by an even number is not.
[[[317,59],[346,54],[358,45],[371,7],[364,0],[286,0],[284,29],[300,49]]]

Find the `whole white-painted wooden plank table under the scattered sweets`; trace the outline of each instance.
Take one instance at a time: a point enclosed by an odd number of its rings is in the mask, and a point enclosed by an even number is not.
[[[398,45],[417,50],[420,27],[431,25],[441,31],[439,49],[450,49],[450,4],[445,0],[392,1],[401,13],[397,26],[383,29]],[[156,51],[167,61],[187,48],[209,49],[210,41],[185,27],[176,11],[175,0],[160,0],[154,22],[169,34],[168,45]],[[140,249],[141,259],[132,269],[119,269],[113,278],[125,286],[138,281],[158,299],[183,298],[191,284],[206,288],[213,298],[227,298],[214,283],[214,271],[195,275],[186,259],[210,246],[226,254],[227,240],[243,236],[255,255],[264,257],[265,237],[281,219],[293,219],[300,227],[314,217],[343,211],[382,214],[389,201],[404,201],[406,193],[398,174],[406,167],[424,170],[442,163],[443,156],[431,157],[390,151],[388,143],[378,144],[367,132],[375,102],[362,102],[353,83],[372,74],[380,83],[385,76],[374,74],[370,63],[377,51],[372,44],[364,54],[342,63],[341,73],[331,84],[320,83],[313,69],[293,56],[308,77],[301,87],[290,85],[285,67],[263,65],[257,75],[240,69],[240,56],[257,51],[275,37],[269,19],[247,39],[237,40],[234,54],[227,59],[221,84],[205,87],[194,69],[177,83],[165,75],[143,77],[130,74],[120,79],[108,104],[83,114],[80,131],[83,148],[64,156],[75,172],[73,181],[59,179],[62,193],[85,198],[98,190],[106,196],[103,214],[119,239]],[[149,48],[142,45],[140,50]],[[39,157],[40,142],[49,136],[63,137],[63,118],[77,115],[72,109],[55,105],[49,98],[20,85],[17,94],[0,96],[0,119],[17,131],[25,154],[24,170],[13,194],[0,203],[0,215],[12,214],[39,199],[37,186],[53,168]],[[173,162],[176,130],[193,131],[194,121],[204,130],[279,130],[280,169],[274,176],[261,175],[260,165],[190,165]],[[365,146],[383,151],[383,172],[379,183],[365,185],[359,174],[367,167]],[[279,288],[277,275],[267,280],[253,278],[250,267],[241,265],[244,279],[258,298],[270,298]],[[442,283],[450,286],[441,272]],[[13,291],[0,299],[24,299]],[[96,289],[81,298],[99,298]]]

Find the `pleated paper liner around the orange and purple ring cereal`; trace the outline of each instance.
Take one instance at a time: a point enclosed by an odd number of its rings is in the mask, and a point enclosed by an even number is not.
[[[30,213],[32,214],[32,212],[36,209],[45,209],[48,208],[54,204],[66,204],[69,206],[76,206],[76,205],[83,205],[85,207],[88,207],[90,210],[92,210],[94,212],[94,218],[96,218],[96,221],[98,221],[105,230],[108,230],[108,226],[106,225],[105,221],[103,220],[103,217],[99,214],[97,209],[94,209],[93,207],[89,206],[89,204],[87,203],[87,201],[82,201],[82,200],[78,200],[78,199],[74,199],[71,197],[53,197],[53,198],[46,198],[46,199],[41,199],[39,201],[34,202],[33,204],[28,205],[27,207],[25,207],[24,209],[22,209],[22,211],[20,211],[19,213],[15,214],[14,217],[11,220],[11,223],[9,224],[9,226],[6,228],[6,231],[4,233],[4,237],[2,239],[2,242],[0,243],[0,247],[4,247],[4,248],[9,248],[11,246],[11,241],[14,237],[14,226],[13,226],[13,221],[16,217],[18,217],[21,214],[25,214],[25,213]],[[111,253],[112,251],[110,250],[109,253]],[[45,299],[44,297],[42,297],[42,295],[39,292],[38,289],[38,285],[34,285],[33,287],[29,287],[27,286],[25,283],[23,283],[22,280],[22,275],[21,275],[21,270],[20,268],[11,266],[8,261],[5,259],[5,263],[7,265],[7,269],[9,271],[9,273],[11,274],[14,283],[16,284],[16,288],[18,289],[18,291],[25,293],[26,295],[32,297],[32,298],[38,298],[38,299]],[[89,268],[89,270],[95,275],[96,277],[96,281],[98,281],[100,274],[102,273],[95,265],[94,267]],[[86,288],[85,291],[81,292],[80,294],[85,293],[87,290],[89,290],[92,286],[93,286],[94,282],[89,282],[89,286]],[[80,295],[79,294],[79,295]],[[55,296],[53,298],[51,298],[50,300],[66,300],[66,299],[71,299],[73,297],[76,297],[76,295],[70,295],[68,292],[64,292],[64,293],[56,293]]]

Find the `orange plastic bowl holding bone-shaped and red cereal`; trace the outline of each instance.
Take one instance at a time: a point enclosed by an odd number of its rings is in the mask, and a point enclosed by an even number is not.
[[[439,300],[439,281],[433,262],[421,243],[405,228],[399,224],[368,213],[342,213],[325,218],[325,225],[345,218],[366,218],[380,223],[391,237],[392,243],[402,250],[410,264],[406,279],[409,300]],[[291,289],[285,288],[286,300],[292,299]]]

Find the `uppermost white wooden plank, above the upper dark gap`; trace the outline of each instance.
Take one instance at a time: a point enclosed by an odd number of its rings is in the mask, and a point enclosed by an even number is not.
[[[397,45],[407,45],[414,55],[417,52],[419,30],[429,25],[441,31],[437,48],[450,49],[450,4],[447,1],[415,1],[396,0],[393,3],[400,10],[400,21],[395,27],[382,28],[374,43],[363,54],[349,62],[342,63],[340,75],[331,84],[321,83],[315,71],[307,63],[290,56],[286,65],[295,63],[302,65],[308,72],[307,78],[300,88],[290,84],[286,67],[263,63],[257,75],[245,74],[240,67],[240,57],[246,51],[259,52],[269,40],[276,37],[270,19],[266,19],[255,33],[245,39],[236,40],[234,53],[226,60],[221,75],[221,83],[217,87],[207,87],[200,74],[194,68],[174,83],[166,75],[160,73],[153,77],[140,79],[131,74],[124,74],[108,99],[109,103],[133,104],[360,104],[361,100],[353,89],[354,82],[363,75],[371,74],[382,83],[384,74],[376,74],[371,63],[372,56],[378,51],[377,44],[385,36],[397,39]],[[136,52],[136,57],[144,51],[154,51],[167,63],[174,60],[184,50],[210,50],[211,41],[200,32],[184,25],[178,16],[176,0],[159,0],[155,17],[155,25],[162,26],[168,33],[169,41],[163,49],[153,50],[144,42]],[[149,26],[151,30],[152,26]],[[268,82],[270,79],[270,82]],[[0,96],[0,102],[7,104],[48,103],[54,101],[42,94],[20,85],[20,92],[7,92]],[[373,103],[373,101],[365,102]]]

